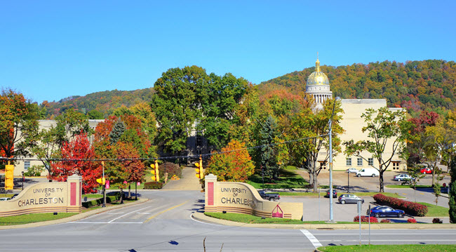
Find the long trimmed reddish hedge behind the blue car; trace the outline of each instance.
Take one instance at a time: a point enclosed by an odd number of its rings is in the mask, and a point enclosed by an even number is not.
[[[426,215],[428,209],[427,206],[424,206],[419,203],[405,201],[402,199],[397,199],[393,197],[387,197],[383,194],[375,194],[374,197],[377,204],[391,206],[392,208],[401,209],[405,213],[414,216],[424,216]]]

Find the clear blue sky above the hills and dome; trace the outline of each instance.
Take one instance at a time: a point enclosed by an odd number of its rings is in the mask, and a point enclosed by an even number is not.
[[[0,1],[1,88],[34,102],[154,86],[173,67],[253,84],[315,64],[456,59],[456,1]]]

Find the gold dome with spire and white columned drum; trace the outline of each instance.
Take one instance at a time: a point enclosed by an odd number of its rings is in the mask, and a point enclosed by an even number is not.
[[[326,100],[333,99],[333,92],[331,92],[329,86],[329,79],[326,74],[321,72],[318,57],[315,62],[315,72],[312,72],[307,78],[306,93],[314,98],[318,109],[323,108],[323,103]]]

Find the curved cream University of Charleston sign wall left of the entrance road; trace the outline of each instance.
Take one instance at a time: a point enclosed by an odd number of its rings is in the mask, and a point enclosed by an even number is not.
[[[0,201],[0,217],[26,213],[81,212],[81,177],[30,185],[14,199]]]

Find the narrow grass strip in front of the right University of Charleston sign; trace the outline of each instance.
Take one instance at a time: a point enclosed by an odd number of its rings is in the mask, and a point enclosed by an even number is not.
[[[204,213],[212,218],[231,220],[238,223],[262,223],[262,224],[328,224],[325,221],[302,221],[283,218],[264,218],[243,213]],[[352,222],[337,222],[337,224],[353,224]]]

